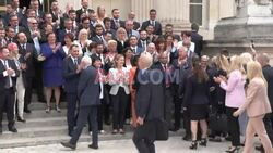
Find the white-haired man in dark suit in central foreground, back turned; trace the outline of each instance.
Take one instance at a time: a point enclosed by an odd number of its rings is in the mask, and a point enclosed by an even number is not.
[[[140,153],[155,153],[156,120],[164,117],[164,87],[158,84],[158,75],[151,72],[153,58],[144,52],[139,59],[136,77],[135,112],[138,127],[133,143]]]

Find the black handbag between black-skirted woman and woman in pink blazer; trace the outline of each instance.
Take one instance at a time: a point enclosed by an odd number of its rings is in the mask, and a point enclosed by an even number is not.
[[[227,115],[223,113],[211,112],[209,116],[209,126],[212,130],[227,132]]]

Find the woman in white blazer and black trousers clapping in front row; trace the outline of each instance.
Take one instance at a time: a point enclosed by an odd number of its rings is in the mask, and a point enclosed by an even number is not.
[[[128,104],[129,72],[124,66],[124,56],[117,54],[114,59],[114,68],[109,69],[108,80],[111,86],[110,95],[112,101],[112,133],[118,131],[123,135],[126,107]]]

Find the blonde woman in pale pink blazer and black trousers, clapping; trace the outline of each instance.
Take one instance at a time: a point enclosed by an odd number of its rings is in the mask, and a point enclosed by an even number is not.
[[[230,59],[230,68],[228,71],[228,80],[224,76],[215,77],[214,80],[219,84],[221,88],[226,91],[225,106],[227,114],[227,123],[229,127],[232,146],[226,151],[234,153],[240,146],[240,127],[238,117],[234,117],[233,113],[246,101],[244,77],[245,69],[242,67],[241,59],[233,56]]]

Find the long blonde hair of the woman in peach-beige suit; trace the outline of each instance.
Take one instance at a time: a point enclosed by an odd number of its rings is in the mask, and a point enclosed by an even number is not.
[[[265,86],[268,87],[268,81],[265,80],[263,73],[262,73],[262,66],[257,61],[248,62],[247,64],[247,76],[249,80],[253,78],[262,78]]]

